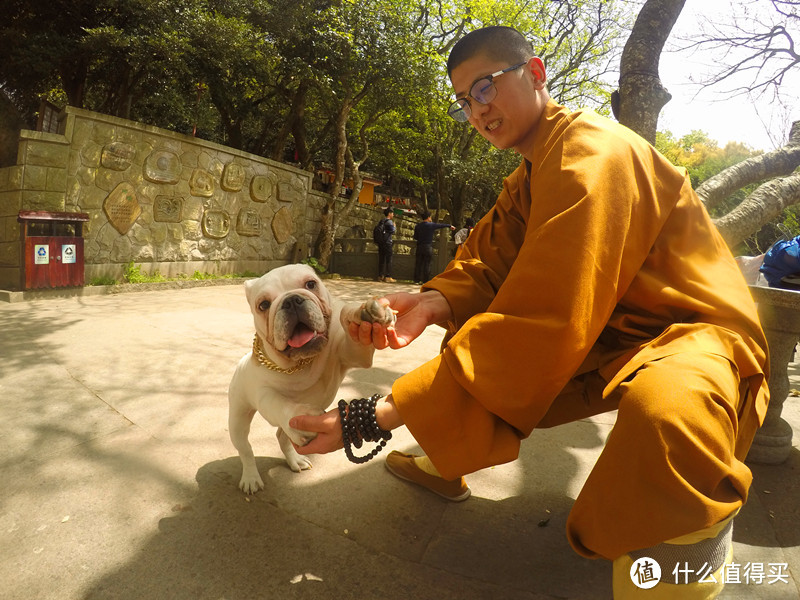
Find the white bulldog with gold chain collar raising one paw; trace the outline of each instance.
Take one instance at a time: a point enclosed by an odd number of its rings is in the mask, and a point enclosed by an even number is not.
[[[350,339],[350,322],[392,323],[394,314],[371,298],[363,304],[332,302],[307,265],[286,265],[245,282],[256,326],[253,350],[239,361],[228,388],[228,429],[242,460],[239,487],[252,494],[264,488],[248,441],[256,412],[278,428],[286,462],[293,471],[311,468],[297,453],[316,434],[289,427],[301,414],[322,414],[352,368],[372,366],[374,348]]]

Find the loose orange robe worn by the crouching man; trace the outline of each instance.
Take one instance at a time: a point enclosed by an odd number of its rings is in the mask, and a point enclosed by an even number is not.
[[[745,281],[685,170],[629,129],[552,101],[533,143],[531,162],[505,180],[456,259],[425,286],[447,299],[452,337],[439,356],[398,379],[392,394],[406,426],[446,478],[514,460],[537,426],[615,408],[618,424],[623,410],[644,425],[686,411],[679,425],[685,435],[670,444],[693,440],[681,451],[711,454],[709,464],[690,459],[598,474],[596,481],[590,476],[573,507],[568,532],[576,550],[616,558],[711,525],[746,500],[751,475],[743,461],[768,402],[767,345]],[[731,381],[720,388],[727,391],[698,383],[702,369],[681,383],[680,360],[656,365],[686,353],[695,354],[696,365],[710,357],[711,370],[724,358],[730,366],[724,378]],[[658,366],[650,372],[661,375],[636,376],[645,365]],[[662,385],[670,374],[678,386],[670,414],[653,419],[640,401],[620,403],[628,390],[623,383],[645,398],[644,405],[647,398],[656,402],[656,390],[647,386]],[[731,389],[734,397],[725,399]],[[721,425],[704,394],[728,404]],[[675,411],[674,399],[689,396]],[[670,402],[663,402],[664,412]],[[713,431],[695,435],[692,428]],[[628,429],[613,452],[606,447],[598,466],[626,462],[626,452],[639,452],[649,442],[643,438],[652,437]],[[713,452],[704,453],[706,446]],[[681,472],[687,468],[697,473]],[[647,483],[624,479],[645,473]],[[647,492],[646,485],[656,491]],[[621,486],[629,505],[598,514],[608,486]],[[664,515],[651,527],[660,518],[648,506],[657,502],[654,494],[680,505],[665,507],[674,518]],[[642,514],[615,517],[614,510]],[[624,529],[632,531],[612,533],[622,519],[630,519],[634,525]],[[647,531],[640,535],[636,524]]]

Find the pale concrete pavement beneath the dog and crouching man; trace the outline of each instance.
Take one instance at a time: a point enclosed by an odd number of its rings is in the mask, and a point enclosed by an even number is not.
[[[344,299],[413,289],[327,285]],[[266,489],[245,497],[226,399],[253,335],[241,285],[69,296],[0,302],[0,597],[611,597],[610,565],[576,555],[564,526],[613,413],[535,432],[516,462],[470,475],[460,504],[395,479],[382,457],[317,456],[293,473],[256,417]],[[438,352],[441,333],[377,352],[339,397],[388,392]],[[724,598],[800,598],[800,400],[784,417],[795,449],[753,466],[734,529],[742,583]],[[405,429],[389,444],[416,448]],[[746,563],[763,567],[761,583],[744,583]]]

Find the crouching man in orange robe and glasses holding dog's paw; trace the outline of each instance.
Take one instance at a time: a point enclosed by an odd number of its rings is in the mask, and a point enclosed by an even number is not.
[[[435,323],[449,331],[377,403],[378,425],[405,424],[427,454],[392,453],[387,467],[463,500],[463,475],[514,460],[537,427],[618,410],[570,512],[570,544],[614,561],[615,598],[715,597],[768,402],[767,344],[736,262],[685,170],[629,129],[555,103],[516,30],[466,35],[448,72],[449,114],[522,162],[441,275],[386,297],[394,327],[351,326],[376,348]],[[299,451],[341,448],[339,420],[296,418],[318,432]],[[662,579],[642,592],[651,559]],[[673,577],[687,561],[692,573]]]

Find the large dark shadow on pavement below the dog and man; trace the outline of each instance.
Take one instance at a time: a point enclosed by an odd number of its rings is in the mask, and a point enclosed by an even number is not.
[[[574,426],[581,446],[601,439],[593,424]],[[295,474],[259,458],[265,489],[252,497],[238,490],[237,457],[211,462],[197,495],[85,598],[608,598],[608,564],[566,541],[564,490],[580,473],[554,441],[543,435],[516,463],[476,475],[459,504],[395,479],[382,460],[317,457]]]

